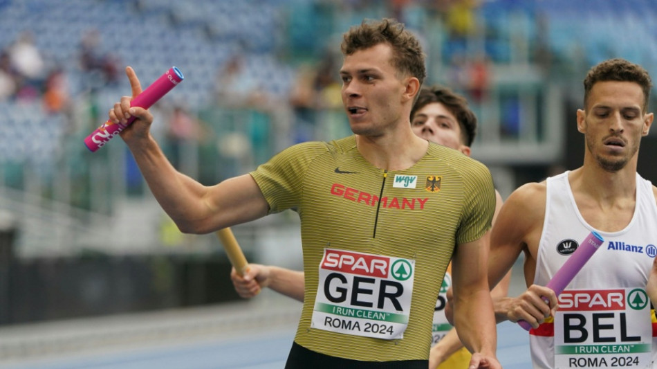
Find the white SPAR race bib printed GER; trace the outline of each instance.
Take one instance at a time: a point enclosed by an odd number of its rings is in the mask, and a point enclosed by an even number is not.
[[[402,339],[415,260],[324,249],[311,327],[376,339]]]

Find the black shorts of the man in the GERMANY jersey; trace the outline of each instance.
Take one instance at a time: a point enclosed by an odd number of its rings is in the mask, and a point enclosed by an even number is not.
[[[427,369],[429,360],[360,361],[332,357],[292,343],[285,369]]]

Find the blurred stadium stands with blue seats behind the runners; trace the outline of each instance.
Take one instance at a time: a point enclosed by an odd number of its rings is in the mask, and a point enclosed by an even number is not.
[[[216,237],[177,231],[120,140],[91,153],[84,137],[130,93],[128,65],[144,86],[185,74],[151,109],[154,133],[202,183],[350,134],[341,35],[381,17],[420,37],[427,85],[468,97],[473,156],[503,197],[580,165],[590,66],[624,57],[657,73],[654,0],[0,0],[0,333],[237,300]],[[639,161],[652,181],[655,141]],[[282,213],[233,231],[252,262],[301,268],[297,224]]]

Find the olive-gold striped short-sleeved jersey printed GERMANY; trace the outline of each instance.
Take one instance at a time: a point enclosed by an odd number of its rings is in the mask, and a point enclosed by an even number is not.
[[[361,361],[427,359],[434,306],[454,247],[478,240],[490,228],[495,195],[488,168],[461,152],[429,143],[411,168],[386,171],[364,159],[355,136],[349,136],[294,145],[250,174],[270,213],[292,209],[301,219],[306,291],[295,342]],[[360,285],[340,284],[346,280],[342,277],[337,284],[319,285],[325,249],[414,260],[412,291],[404,291],[411,294],[411,303],[410,312],[404,312],[409,315],[402,339],[311,327],[317,291],[350,304],[354,309],[349,311],[358,314],[390,294],[379,290],[382,285],[374,278],[362,276],[354,279]],[[335,318],[332,324],[350,324]]]

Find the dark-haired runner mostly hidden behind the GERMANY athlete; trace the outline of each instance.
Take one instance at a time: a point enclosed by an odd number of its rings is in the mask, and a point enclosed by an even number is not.
[[[459,150],[470,156],[470,145],[476,134],[476,116],[468,107],[468,102],[445,87],[423,87],[411,111],[411,127],[416,135]],[[496,193],[495,214],[502,206],[502,199]],[[427,224],[433,224],[430,218]],[[494,223],[494,217],[493,217]],[[447,321],[447,289],[452,287],[451,264],[447,267],[441,291],[434,309],[432,324],[432,349],[429,355],[429,369],[467,368],[472,356],[463,347],[456,330]],[[240,296],[256,296],[263,287],[269,287],[281,294],[304,301],[304,273],[271,265],[250,264],[244,276],[235,269],[231,279]],[[494,298],[506,296],[510,282],[507,276],[491,291]]]

